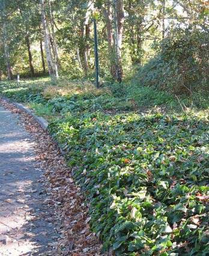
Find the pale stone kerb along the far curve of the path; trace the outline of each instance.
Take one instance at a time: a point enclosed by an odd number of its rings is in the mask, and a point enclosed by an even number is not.
[[[26,107],[23,104],[17,103],[17,102],[13,102],[8,98],[2,97],[0,96],[2,99],[4,99],[4,101],[7,101],[10,104],[13,104],[15,107],[17,107],[19,110],[24,111],[25,113],[30,114],[32,117],[34,117],[34,119],[39,123],[39,125],[41,126],[41,128],[43,128],[44,131],[46,131],[48,129],[49,126],[49,122],[47,122],[46,119],[44,119],[44,117],[42,116],[37,116],[34,111],[32,111],[30,108]]]

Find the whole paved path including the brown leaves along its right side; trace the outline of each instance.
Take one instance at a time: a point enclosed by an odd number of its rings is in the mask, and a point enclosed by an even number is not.
[[[30,116],[0,104],[0,255],[100,255],[58,149]]]

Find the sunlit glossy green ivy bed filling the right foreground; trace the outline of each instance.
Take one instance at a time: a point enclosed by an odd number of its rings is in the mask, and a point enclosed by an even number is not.
[[[208,255],[207,116],[81,111],[50,131],[86,195],[104,251]]]

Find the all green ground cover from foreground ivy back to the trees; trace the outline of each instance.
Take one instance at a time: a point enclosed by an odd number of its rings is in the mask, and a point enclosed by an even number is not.
[[[207,110],[165,113],[160,106],[177,105],[172,95],[132,83],[35,83],[4,82],[0,92],[51,120],[104,251],[208,254]]]

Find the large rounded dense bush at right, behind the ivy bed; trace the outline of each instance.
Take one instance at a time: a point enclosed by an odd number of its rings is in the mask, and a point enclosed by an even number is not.
[[[139,83],[174,93],[191,93],[209,81],[208,33],[175,30],[159,45],[159,54],[139,71]]]

